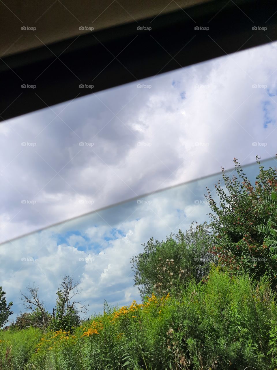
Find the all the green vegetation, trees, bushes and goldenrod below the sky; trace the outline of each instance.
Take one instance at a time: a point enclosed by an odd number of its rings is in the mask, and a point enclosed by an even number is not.
[[[0,370],[276,370],[277,169],[251,184],[234,159],[222,169],[209,223],[151,238],[131,259],[141,303],[104,303],[80,320],[78,282],[64,276],[52,313],[38,287],[21,293],[26,312],[0,331]],[[12,303],[0,288],[0,325]]]

